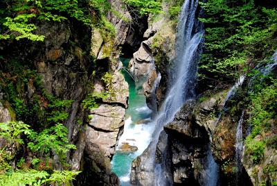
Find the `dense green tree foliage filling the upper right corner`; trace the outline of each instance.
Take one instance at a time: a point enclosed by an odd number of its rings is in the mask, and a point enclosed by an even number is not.
[[[257,6],[253,0],[207,0],[200,3],[206,27],[199,78],[229,81],[250,65],[272,55],[277,40],[276,8]],[[270,21],[269,21],[270,20]]]

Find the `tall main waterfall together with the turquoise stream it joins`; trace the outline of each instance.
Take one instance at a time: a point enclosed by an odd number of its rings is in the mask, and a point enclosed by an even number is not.
[[[157,143],[163,126],[171,122],[181,106],[190,99],[195,99],[195,85],[197,79],[197,65],[199,54],[202,51],[201,43],[204,35],[204,26],[197,16],[199,15],[199,2],[196,0],[185,1],[181,7],[181,15],[177,26],[176,57],[172,64],[168,93],[157,115],[150,121],[150,112],[145,99],[136,93],[132,79],[125,72],[125,78],[129,83],[129,108],[125,121],[124,133],[120,137],[117,153],[111,162],[112,171],[120,178],[121,185],[129,185],[130,176],[134,184],[134,174],[131,173],[131,164],[134,158],[141,155],[141,167],[136,167],[145,172],[145,180],[142,185],[172,185],[172,178],[166,174],[166,157],[161,157],[161,163],[155,162]],[[127,66],[127,60],[125,60]],[[140,119],[146,119],[141,122]],[[136,124],[137,121],[140,124]],[[163,136],[166,144],[166,136]],[[147,149],[146,149],[147,148]],[[146,150],[145,150],[146,149]],[[135,152],[132,152],[132,151]],[[163,155],[161,155],[163,156]],[[212,155],[210,155],[212,157]],[[211,162],[213,161],[213,158]],[[210,164],[208,167],[211,168]],[[213,167],[213,166],[212,166]],[[211,170],[213,172],[213,170]],[[213,175],[216,177],[216,175]],[[135,175],[136,177],[136,175]],[[216,178],[210,178],[216,183]],[[208,181],[209,182],[209,181]],[[213,185],[209,184],[208,185]]]

